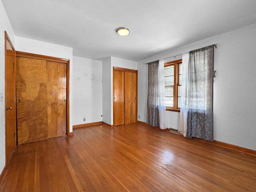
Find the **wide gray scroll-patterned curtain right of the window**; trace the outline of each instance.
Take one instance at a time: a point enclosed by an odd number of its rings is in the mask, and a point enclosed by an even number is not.
[[[214,45],[189,52],[187,136],[213,141]]]

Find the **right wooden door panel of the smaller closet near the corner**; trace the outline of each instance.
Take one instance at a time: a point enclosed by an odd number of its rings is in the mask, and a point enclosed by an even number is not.
[[[125,72],[125,124],[137,122],[137,74]]]

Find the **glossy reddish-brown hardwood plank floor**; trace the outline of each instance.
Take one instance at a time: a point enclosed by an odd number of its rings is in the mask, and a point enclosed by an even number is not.
[[[142,124],[18,146],[0,191],[255,192],[256,156]]]

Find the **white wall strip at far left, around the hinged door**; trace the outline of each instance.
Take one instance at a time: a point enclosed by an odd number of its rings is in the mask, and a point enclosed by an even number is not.
[[[5,165],[5,79],[4,79],[4,31],[15,47],[15,36],[10,21],[0,1],[0,173]]]

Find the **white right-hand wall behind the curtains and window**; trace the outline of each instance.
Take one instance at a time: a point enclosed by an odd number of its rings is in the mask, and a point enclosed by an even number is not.
[[[214,56],[214,140],[256,150],[255,34],[256,24],[252,24],[138,62],[140,120],[146,121],[146,62],[218,43]],[[168,114],[168,124],[173,122],[172,126],[178,128],[178,115],[174,113]]]

